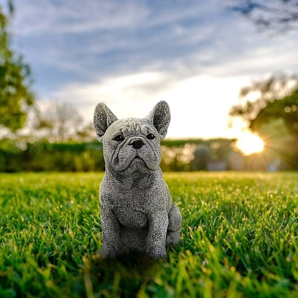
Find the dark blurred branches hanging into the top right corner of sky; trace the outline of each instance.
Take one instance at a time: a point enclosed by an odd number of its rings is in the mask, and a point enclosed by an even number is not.
[[[298,29],[298,0],[237,0],[230,8],[246,16],[261,30]]]

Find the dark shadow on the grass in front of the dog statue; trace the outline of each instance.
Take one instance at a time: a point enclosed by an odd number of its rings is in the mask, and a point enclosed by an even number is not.
[[[132,297],[160,291],[156,272],[165,270],[166,259],[153,260],[139,252],[116,258],[98,255],[83,258],[84,283],[87,297]]]

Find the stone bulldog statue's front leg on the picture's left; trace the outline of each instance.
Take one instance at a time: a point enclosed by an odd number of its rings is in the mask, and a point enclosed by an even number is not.
[[[120,230],[119,221],[109,206],[100,207],[100,221],[102,228],[102,247],[98,254],[102,257],[115,257],[119,253]]]

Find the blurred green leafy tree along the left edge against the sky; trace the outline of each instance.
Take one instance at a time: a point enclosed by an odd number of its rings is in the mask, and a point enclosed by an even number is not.
[[[29,66],[10,48],[7,18],[0,7],[0,125],[12,132],[24,126],[26,109],[33,104],[31,83]]]

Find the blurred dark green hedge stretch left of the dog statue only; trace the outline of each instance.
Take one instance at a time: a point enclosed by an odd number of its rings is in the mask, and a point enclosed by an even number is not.
[[[51,144],[0,143],[0,171],[102,171],[102,146],[98,142]]]

